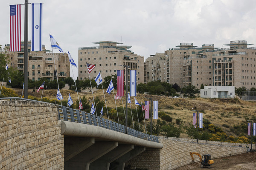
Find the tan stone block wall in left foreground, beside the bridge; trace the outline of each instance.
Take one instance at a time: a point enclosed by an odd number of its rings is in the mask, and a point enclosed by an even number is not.
[[[0,169],[64,170],[57,105],[0,100]]]

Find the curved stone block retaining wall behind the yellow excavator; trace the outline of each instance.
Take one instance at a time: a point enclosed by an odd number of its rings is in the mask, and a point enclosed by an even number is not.
[[[211,154],[212,159],[245,153],[246,144],[235,144],[227,142],[203,141],[181,138],[160,137],[159,142],[163,144],[162,149],[148,149],[126,163],[131,167],[146,168],[148,170],[173,170],[186,164],[192,159],[189,152],[198,152],[201,155]],[[241,145],[242,147],[238,147]],[[194,156],[199,161],[198,156]]]

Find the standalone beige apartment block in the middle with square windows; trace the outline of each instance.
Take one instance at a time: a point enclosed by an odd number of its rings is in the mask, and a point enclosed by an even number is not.
[[[116,70],[124,69],[119,65],[128,65],[128,71],[137,70],[137,83],[144,83],[144,57],[134,54],[134,52],[129,50],[131,46],[112,41],[92,43],[99,44],[99,46],[79,48],[79,80],[89,78],[87,62],[96,65],[90,73],[91,79],[95,78],[99,72],[101,73],[102,79],[104,79],[104,77],[116,74]]]

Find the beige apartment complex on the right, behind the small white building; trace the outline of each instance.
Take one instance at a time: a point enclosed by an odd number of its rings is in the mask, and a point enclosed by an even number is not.
[[[225,44],[230,48],[216,48],[213,44],[204,44],[197,47],[193,43],[180,43],[176,48],[165,51],[163,61],[158,62],[156,56],[146,59],[144,80],[154,81],[154,75],[161,75],[161,81],[170,84],[177,83],[180,87],[194,85],[200,88],[201,84],[208,86],[256,87],[255,65],[256,48],[248,47],[247,41],[230,41]],[[152,59],[154,58],[154,59]],[[150,65],[149,65],[150,63]],[[159,64],[154,74],[152,67]],[[150,67],[152,65],[152,67]],[[163,68],[166,68],[166,80],[162,79]]]

